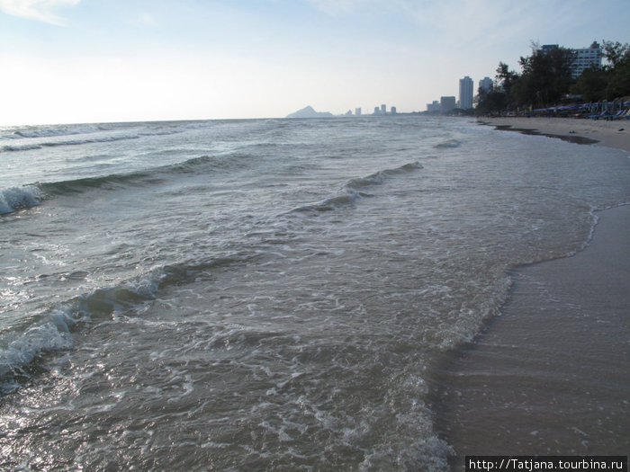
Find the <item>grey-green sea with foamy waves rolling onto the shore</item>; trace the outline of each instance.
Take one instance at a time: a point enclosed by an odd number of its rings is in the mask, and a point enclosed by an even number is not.
[[[0,469],[449,470],[439,360],[629,201],[473,119],[0,128]]]

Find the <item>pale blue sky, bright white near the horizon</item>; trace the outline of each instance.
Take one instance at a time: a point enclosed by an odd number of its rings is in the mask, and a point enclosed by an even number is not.
[[[425,111],[629,21],[630,0],[0,0],[0,125]]]

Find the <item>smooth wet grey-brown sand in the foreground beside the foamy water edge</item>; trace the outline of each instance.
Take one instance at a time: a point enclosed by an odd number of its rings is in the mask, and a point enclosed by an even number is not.
[[[466,455],[626,455],[630,206],[598,212],[590,245],[518,268],[502,315],[435,378],[436,423]]]

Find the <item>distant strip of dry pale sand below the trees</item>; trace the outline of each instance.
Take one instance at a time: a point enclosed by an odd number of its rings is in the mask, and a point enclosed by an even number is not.
[[[480,122],[496,127],[537,130],[543,135],[588,138],[595,146],[615,147],[630,152],[630,120],[586,120],[572,118],[488,118]]]

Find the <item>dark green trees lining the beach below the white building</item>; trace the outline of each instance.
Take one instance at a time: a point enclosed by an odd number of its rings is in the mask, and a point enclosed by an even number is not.
[[[540,49],[521,57],[521,72],[499,63],[491,91],[480,87],[475,97],[477,114],[531,111],[567,102],[613,101],[630,95],[630,44],[602,41],[603,67],[590,67],[572,77],[577,56],[572,49]]]

